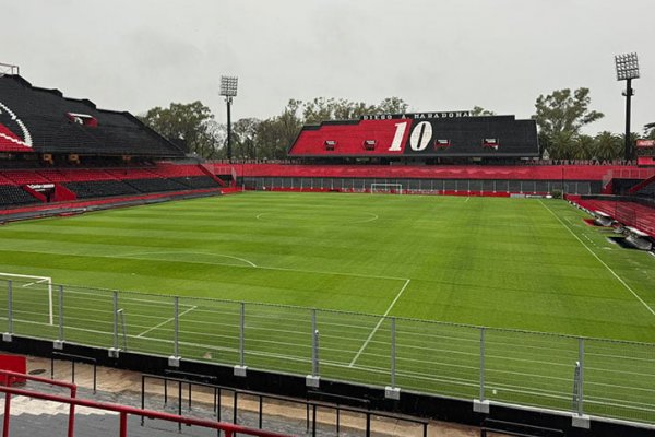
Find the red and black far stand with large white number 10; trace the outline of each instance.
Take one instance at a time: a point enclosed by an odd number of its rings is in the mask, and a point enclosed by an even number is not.
[[[534,158],[539,150],[534,120],[434,111],[308,125],[288,155],[330,162],[466,163]]]

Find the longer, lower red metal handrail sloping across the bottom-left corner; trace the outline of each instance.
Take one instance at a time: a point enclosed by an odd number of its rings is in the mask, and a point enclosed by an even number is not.
[[[22,377],[22,375],[21,375],[21,377]],[[86,399],[67,398],[67,397],[61,397],[61,395],[57,395],[57,394],[48,394],[48,393],[41,393],[41,392],[36,392],[36,391],[31,391],[31,390],[14,389],[11,387],[0,387],[0,392],[4,392],[7,395],[7,399],[10,399],[12,394],[15,394],[15,395],[23,395],[23,397],[27,397],[27,398],[40,399],[40,400],[45,400],[45,401],[68,403],[71,406],[80,405],[80,406],[86,406],[90,409],[111,411],[115,413],[119,413],[119,415],[120,415],[119,436],[120,437],[127,437],[127,435],[128,435],[128,430],[127,430],[128,415],[136,415],[136,416],[142,416],[142,417],[157,418],[157,420],[162,420],[162,421],[177,422],[177,423],[182,423],[186,425],[195,425],[195,426],[202,426],[205,428],[223,430],[225,433],[225,437],[234,437],[237,433],[246,434],[249,436],[258,436],[258,437],[290,437],[285,434],[265,432],[265,430],[261,430],[261,429],[252,429],[252,428],[247,428],[245,426],[233,425],[229,423],[214,422],[214,421],[207,421],[207,420],[194,418],[194,417],[183,417],[183,416],[179,416],[176,414],[163,413],[163,412],[158,412],[158,411],[141,410],[141,409],[138,409],[134,406],[119,405],[119,404],[105,403],[105,402],[95,402],[95,401],[91,401],[91,400],[86,400]],[[11,417],[11,415],[9,414],[9,411],[8,411],[9,410],[8,405],[9,405],[9,402],[5,404],[4,421],[8,424],[8,426],[4,432],[4,437],[9,437],[9,417]],[[70,433],[69,433],[69,436],[72,437],[72,435]]]

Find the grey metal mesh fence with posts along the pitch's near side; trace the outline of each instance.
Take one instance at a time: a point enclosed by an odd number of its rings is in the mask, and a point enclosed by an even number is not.
[[[0,315],[4,341],[15,334],[655,424],[655,344],[26,279],[0,280]]]

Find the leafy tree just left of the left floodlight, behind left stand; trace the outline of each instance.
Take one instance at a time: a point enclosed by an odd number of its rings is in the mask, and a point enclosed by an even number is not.
[[[190,104],[171,103],[168,108],[150,109],[139,119],[169,141],[182,141],[189,152],[209,156],[213,151],[210,121],[214,115],[200,101]]]

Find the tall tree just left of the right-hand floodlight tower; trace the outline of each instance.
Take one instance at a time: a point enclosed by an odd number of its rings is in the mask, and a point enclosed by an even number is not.
[[[605,116],[603,113],[591,110],[591,103],[588,88],[577,88],[573,94],[568,88],[556,90],[552,94],[537,97],[537,114],[533,119],[537,121],[540,133],[547,138],[560,132],[577,134],[583,126]]]

